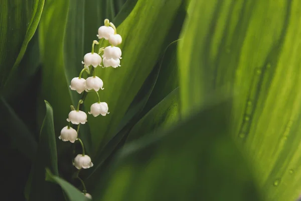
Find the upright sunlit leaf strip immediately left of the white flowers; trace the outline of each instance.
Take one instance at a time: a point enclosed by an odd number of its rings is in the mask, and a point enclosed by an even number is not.
[[[60,133],[66,126],[64,120],[67,119],[72,104],[69,93],[70,82],[66,79],[63,60],[64,27],[68,6],[68,0],[47,1],[39,26],[43,62],[39,111],[43,111],[42,101],[47,99],[53,107],[56,133]],[[42,114],[40,116],[42,119]]]

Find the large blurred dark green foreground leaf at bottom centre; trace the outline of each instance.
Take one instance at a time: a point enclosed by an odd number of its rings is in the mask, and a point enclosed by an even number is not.
[[[96,200],[261,200],[227,133],[227,102],[124,146],[88,186]],[[218,127],[216,125],[219,125]]]

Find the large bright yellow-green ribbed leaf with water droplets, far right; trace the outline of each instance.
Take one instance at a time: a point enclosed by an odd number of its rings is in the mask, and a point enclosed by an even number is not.
[[[266,200],[295,200],[301,192],[301,2],[192,0],[189,13],[179,46],[183,114],[215,88],[236,94],[231,133],[247,151]]]

